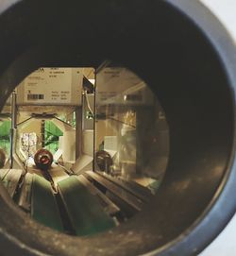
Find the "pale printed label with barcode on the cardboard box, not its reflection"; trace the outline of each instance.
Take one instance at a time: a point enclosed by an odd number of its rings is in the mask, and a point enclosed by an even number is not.
[[[40,68],[25,78],[24,87],[26,103],[71,103],[72,68]]]

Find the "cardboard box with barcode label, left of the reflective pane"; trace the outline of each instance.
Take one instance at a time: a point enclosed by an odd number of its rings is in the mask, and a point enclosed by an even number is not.
[[[17,104],[80,106],[82,68],[40,68],[17,87]]]

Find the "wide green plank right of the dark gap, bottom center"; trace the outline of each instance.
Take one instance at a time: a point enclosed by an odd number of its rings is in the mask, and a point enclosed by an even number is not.
[[[75,176],[59,181],[58,188],[76,235],[91,235],[115,227],[96,197]]]

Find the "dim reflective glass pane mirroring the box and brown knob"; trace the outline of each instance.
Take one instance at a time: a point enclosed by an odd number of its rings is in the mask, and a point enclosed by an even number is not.
[[[156,193],[169,154],[169,128],[148,85],[122,67],[96,76],[95,171]]]

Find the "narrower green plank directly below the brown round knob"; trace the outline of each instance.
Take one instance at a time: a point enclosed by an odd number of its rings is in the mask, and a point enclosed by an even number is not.
[[[31,216],[36,221],[54,230],[63,230],[59,208],[49,181],[33,175]]]

